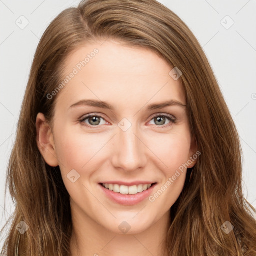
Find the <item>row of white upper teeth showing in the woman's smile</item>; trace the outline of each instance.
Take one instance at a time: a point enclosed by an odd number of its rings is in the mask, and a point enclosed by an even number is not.
[[[133,185],[133,186],[125,186],[125,185],[118,185],[118,184],[107,184],[103,183],[103,187],[106,189],[109,189],[111,191],[114,191],[116,193],[121,194],[137,194],[140,192],[143,192],[151,187],[151,184],[139,184],[139,185]]]

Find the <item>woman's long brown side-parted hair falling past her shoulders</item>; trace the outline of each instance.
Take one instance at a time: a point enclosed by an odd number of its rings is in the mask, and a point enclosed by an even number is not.
[[[47,95],[61,83],[67,55],[99,38],[148,48],[183,73],[191,133],[201,155],[171,207],[169,255],[255,256],[256,211],[242,193],[235,124],[197,39],[155,0],[85,0],[47,27],[33,59],[8,164],[6,187],[15,211],[2,255],[70,255],[69,194],[59,166],[47,165],[38,150],[35,120],[39,112],[52,120],[57,95]],[[20,221],[29,227],[23,234],[16,230]],[[228,234],[224,223],[233,226]]]

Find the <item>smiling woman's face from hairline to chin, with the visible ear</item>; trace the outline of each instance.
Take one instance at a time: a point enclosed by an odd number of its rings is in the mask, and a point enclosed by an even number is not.
[[[59,165],[73,214],[116,233],[128,223],[138,233],[169,216],[185,181],[180,167],[194,166],[196,148],[173,67],[145,48],[101,44],[66,59],[68,82],[51,94],[53,128],[37,115],[38,147]]]

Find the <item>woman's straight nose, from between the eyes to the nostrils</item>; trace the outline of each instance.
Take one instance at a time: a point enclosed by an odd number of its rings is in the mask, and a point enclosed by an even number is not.
[[[118,128],[112,141],[112,164],[126,172],[143,168],[147,162],[147,146],[135,126],[131,125],[126,131]]]

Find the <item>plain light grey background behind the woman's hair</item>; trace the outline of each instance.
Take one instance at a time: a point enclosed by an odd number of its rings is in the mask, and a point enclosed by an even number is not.
[[[14,209],[8,194],[4,209],[6,167],[36,46],[50,21],[78,2],[0,0],[0,228]],[[244,195],[256,207],[256,0],[159,2],[179,15],[203,46],[239,131]]]

